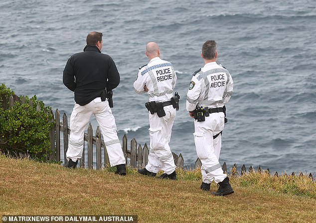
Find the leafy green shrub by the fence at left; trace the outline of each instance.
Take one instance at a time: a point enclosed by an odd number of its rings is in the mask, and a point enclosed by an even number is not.
[[[15,102],[13,107],[5,110],[2,108],[2,95],[5,95],[8,104],[8,97],[14,92],[1,84],[0,93],[0,151],[11,156],[22,154],[45,161],[50,152],[49,129],[54,126],[50,107],[45,107],[34,95],[31,99],[26,96],[24,104]],[[32,103],[29,103],[30,100]],[[40,109],[36,109],[37,106]]]

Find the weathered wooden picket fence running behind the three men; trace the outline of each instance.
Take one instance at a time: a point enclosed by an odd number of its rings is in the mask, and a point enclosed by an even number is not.
[[[18,97],[17,95],[12,95],[9,97],[9,104],[6,104],[6,99],[5,95],[2,95],[2,107],[6,109],[8,106],[12,107],[16,101],[19,101],[20,103],[26,103],[25,97],[20,96]],[[32,105],[32,101],[30,100],[28,103]],[[40,110],[39,105],[36,107],[37,110]],[[53,114],[53,111],[50,111],[51,114]],[[52,128],[49,131],[49,137],[51,139],[51,153],[48,154],[48,159],[49,161],[61,161],[61,132],[63,133],[63,151],[64,151],[64,162],[67,164],[67,159],[66,159],[66,152],[68,149],[68,139],[69,139],[69,134],[70,134],[70,129],[68,128],[68,120],[67,116],[64,113],[62,117],[62,122],[60,120],[60,113],[58,109],[56,109],[55,116],[51,120],[52,122],[55,122],[54,128]],[[104,167],[107,167],[110,162],[109,162],[109,156],[107,153],[107,149],[105,146],[104,141],[101,139],[101,131],[100,128],[97,127],[95,136],[93,136],[93,129],[91,123],[89,124],[88,127],[88,132],[84,134],[84,141],[87,142],[87,156],[85,155],[85,144],[84,144],[84,149],[83,149],[83,154],[82,158],[80,159],[79,165],[80,167],[83,168],[89,168],[93,169],[93,159],[95,159],[96,163],[96,169],[102,169]],[[95,157],[94,157],[94,152],[93,149],[95,147]],[[102,149],[103,149],[103,165],[102,165]],[[139,144],[137,144],[136,139],[132,139],[130,143],[130,149],[128,149],[128,139],[127,136],[123,136],[123,141],[122,141],[122,149],[123,153],[125,156],[126,164],[130,165],[133,168],[142,168],[145,167],[146,164],[148,163],[148,154],[149,154],[149,148],[147,144],[145,144],[143,147]],[[183,169],[183,163],[184,159],[182,154],[180,153],[179,155],[175,154],[172,152],[174,163],[177,167]],[[85,160],[87,159],[87,166],[85,165]],[[194,168],[200,168],[201,167],[201,161],[199,158],[196,159]],[[224,173],[228,173],[227,171],[227,165],[226,162],[223,163],[222,169]],[[241,167],[240,173],[238,172],[238,168],[236,163],[233,164],[233,166],[229,169],[231,175],[244,175],[247,173],[246,166],[243,165]],[[267,170],[263,170],[261,166],[258,166],[258,169],[255,170],[252,166],[249,167],[248,172],[268,172],[270,174],[269,168]],[[283,175],[287,175],[284,173]],[[292,176],[295,176],[295,173],[292,172]],[[304,176],[307,174],[304,174],[300,172],[297,174],[298,176]],[[274,173],[274,176],[279,176],[278,172]],[[313,179],[313,174],[310,173],[308,177]]]

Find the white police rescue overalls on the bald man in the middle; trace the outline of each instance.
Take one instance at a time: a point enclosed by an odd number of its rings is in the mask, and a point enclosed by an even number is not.
[[[149,101],[169,101],[173,96],[173,88],[176,82],[176,74],[168,61],[159,57],[153,58],[148,65],[139,70],[134,82],[136,93],[146,93],[144,86],[148,88]],[[175,119],[175,108],[172,105],[163,107],[165,116],[158,117],[157,113],[149,112],[150,124],[150,152],[146,169],[157,173],[159,169],[166,174],[175,170],[173,156],[169,147],[171,129]]]

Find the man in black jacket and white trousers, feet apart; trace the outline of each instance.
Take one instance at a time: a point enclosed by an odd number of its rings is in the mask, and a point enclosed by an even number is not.
[[[82,157],[84,130],[92,114],[100,125],[111,166],[117,174],[126,175],[125,157],[117,135],[115,118],[105,88],[110,91],[120,83],[120,74],[109,55],[102,54],[102,33],[90,32],[83,52],[72,55],[63,73],[63,83],[75,94],[70,117],[70,137],[66,153],[69,168],[75,168]],[[102,96],[102,97],[101,97]]]

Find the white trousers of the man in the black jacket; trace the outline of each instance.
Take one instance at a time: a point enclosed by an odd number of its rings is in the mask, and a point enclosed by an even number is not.
[[[70,116],[71,132],[68,150],[66,152],[67,160],[71,158],[71,160],[75,162],[77,159],[82,157],[84,131],[92,114],[94,114],[99,123],[103,140],[109,154],[110,165],[116,166],[119,164],[125,164],[124,153],[117,135],[115,118],[112,115],[109,102],[107,100],[101,101],[100,97],[97,97],[84,106],[75,103]]]

